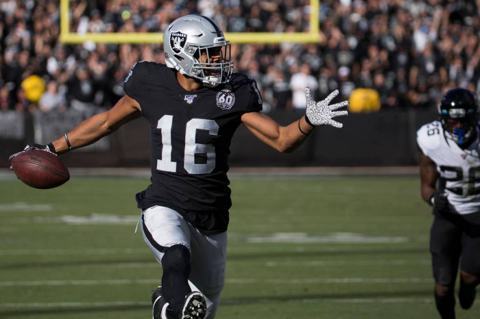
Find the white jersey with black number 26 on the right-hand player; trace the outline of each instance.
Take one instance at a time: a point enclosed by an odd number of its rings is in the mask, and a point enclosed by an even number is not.
[[[477,139],[467,149],[447,139],[439,121],[417,131],[418,146],[440,174],[439,191],[448,194],[450,204],[462,215],[480,212],[480,134],[476,129]]]

